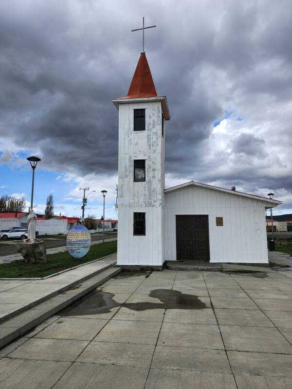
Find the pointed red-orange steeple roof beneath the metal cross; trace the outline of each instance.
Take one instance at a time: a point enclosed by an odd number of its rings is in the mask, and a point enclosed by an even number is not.
[[[140,55],[128,95],[120,99],[135,99],[140,97],[156,97],[157,92],[147,62],[146,54]]]

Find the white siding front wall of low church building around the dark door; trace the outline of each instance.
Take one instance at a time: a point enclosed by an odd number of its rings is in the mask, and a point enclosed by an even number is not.
[[[189,186],[164,197],[164,260],[176,260],[176,215],[208,215],[210,262],[268,263],[265,202]],[[216,217],[223,226],[216,226]]]

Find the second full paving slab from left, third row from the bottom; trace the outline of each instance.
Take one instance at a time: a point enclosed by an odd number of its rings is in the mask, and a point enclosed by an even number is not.
[[[158,321],[130,321],[111,320],[94,341],[156,344],[161,322]]]

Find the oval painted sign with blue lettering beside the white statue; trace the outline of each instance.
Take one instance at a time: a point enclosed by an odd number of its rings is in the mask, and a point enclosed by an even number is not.
[[[83,258],[91,248],[91,234],[89,230],[78,224],[67,234],[67,250],[73,258]]]

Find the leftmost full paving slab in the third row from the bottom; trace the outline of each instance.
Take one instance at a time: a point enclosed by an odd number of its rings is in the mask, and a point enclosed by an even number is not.
[[[107,319],[58,318],[35,337],[92,340],[107,322]]]

